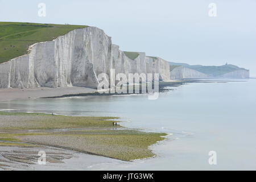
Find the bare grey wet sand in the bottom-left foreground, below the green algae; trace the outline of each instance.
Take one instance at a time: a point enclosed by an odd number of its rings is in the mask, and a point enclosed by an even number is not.
[[[63,148],[0,146],[0,171],[90,170],[101,164],[128,163],[103,156],[82,154]],[[39,151],[46,152],[46,164],[39,164]]]

